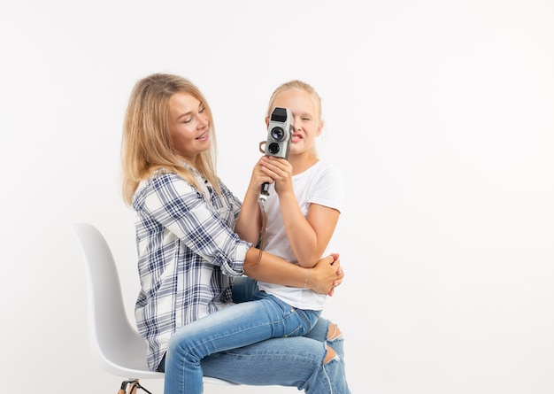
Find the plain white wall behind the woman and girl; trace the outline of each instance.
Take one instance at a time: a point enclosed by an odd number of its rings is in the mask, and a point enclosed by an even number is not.
[[[325,314],[353,393],[554,392],[549,0],[4,2],[0,50],[3,392],[117,390],[88,352],[70,225],[104,232],[132,308],[120,129],[154,72],[203,89],[240,196],[272,90],[324,98],[322,151],[350,189]]]

